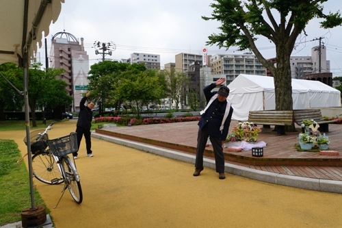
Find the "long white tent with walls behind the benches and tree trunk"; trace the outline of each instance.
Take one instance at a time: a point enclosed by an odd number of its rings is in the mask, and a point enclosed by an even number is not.
[[[228,101],[234,112],[233,119],[247,121],[254,110],[274,110],[276,95],[274,78],[259,75],[239,75],[228,85]],[[292,79],[293,110],[310,107],[340,107],[341,95],[320,81]]]

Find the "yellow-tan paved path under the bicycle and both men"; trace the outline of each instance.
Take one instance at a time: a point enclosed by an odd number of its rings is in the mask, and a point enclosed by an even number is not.
[[[70,131],[75,131],[75,122],[55,123],[49,136],[57,138]],[[15,140],[23,155],[24,137],[25,131],[0,131],[0,138]],[[94,137],[94,157],[86,157],[84,140],[81,142],[75,161],[83,190],[81,205],[66,192],[53,209],[62,185],[34,179],[54,227],[341,227],[341,194],[230,173],[220,180],[212,168],[193,177],[193,163],[144,153],[131,148],[133,142],[125,143],[130,147]],[[165,153],[179,155],[168,149]],[[190,162],[192,159],[189,155]],[[212,163],[208,160],[207,164]]]

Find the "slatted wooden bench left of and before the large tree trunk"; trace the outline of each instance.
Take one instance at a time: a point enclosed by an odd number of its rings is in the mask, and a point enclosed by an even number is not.
[[[285,134],[285,125],[292,125],[293,111],[276,111],[276,110],[261,110],[250,111],[248,122],[256,125],[263,125],[269,128],[269,125],[276,125],[278,136]]]

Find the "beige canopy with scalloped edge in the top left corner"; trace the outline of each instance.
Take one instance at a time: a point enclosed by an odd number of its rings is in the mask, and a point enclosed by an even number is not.
[[[27,58],[42,46],[42,31],[49,34],[51,21],[55,23],[64,0],[1,0],[0,64],[21,64],[23,51]]]

